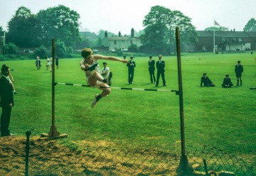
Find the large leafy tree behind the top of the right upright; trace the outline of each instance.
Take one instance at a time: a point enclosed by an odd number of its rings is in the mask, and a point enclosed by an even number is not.
[[[196,41],[196,28],[191,18],[181,11],[171,11],[164,6],[153,6],[143,21],[144,34],[141,35],[145,51],[152,53],[170,53],[175,51],[176,27],[180,28],[181,45],[189,45]]]

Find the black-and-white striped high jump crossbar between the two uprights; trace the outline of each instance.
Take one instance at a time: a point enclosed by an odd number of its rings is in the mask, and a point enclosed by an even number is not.
[[[55,85],[68,85],[68,86],[78,86],[78,87],[91,87],[90,85],[84,84],[72,84],[64,82],[55,82]],[[100,87],[100,88],[111,88],[111,89],[124,89],[124,90],[140,90],[140,91],[159,91],[159,92],[177,92],[176,90],[171,89],[144,89],[144,88],[129,88],[129,87]]]

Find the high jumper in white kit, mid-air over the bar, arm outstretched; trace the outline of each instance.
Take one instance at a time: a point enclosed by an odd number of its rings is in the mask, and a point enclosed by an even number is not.
[[[103,78],[98,60],[115,60],[124,63],[127,63],[128,61],[114,56],[93,55],[92,49],[90,48],[83,49],[81,55],[82,60],[80,61],[80,67],[81,70],[85,71],[87,85],[102,90],[101,94],[95,95],[95,98],[92,101],[93,108],[102,97],[106,97],[111,92],[109,84],[112,79],[112,74],[107,78]]]

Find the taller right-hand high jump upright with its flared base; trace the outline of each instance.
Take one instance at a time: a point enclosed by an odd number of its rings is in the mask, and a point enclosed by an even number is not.
[[[176,27],[176,48],[177,48],[177,61],[178,61],[178,92],[179,106],[180,106],[180,121],[181,121],[181,160],[176,172],[178,175],[192,174],[193,167],[188,163],[188,158],[185,155],[185,128],[184,128],[184,114],[183,114],[183,89],[182,89],[182,76],[181,76],[181,45],[179,28]]]

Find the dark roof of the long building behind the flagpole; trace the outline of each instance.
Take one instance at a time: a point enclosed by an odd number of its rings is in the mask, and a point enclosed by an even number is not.
[[[213,37],[213,31],[197,31],[198,37]],[[223,38],[246,38],[256,37],[256,32],[245,32],[245,31],[215,31],[216,37]]]

